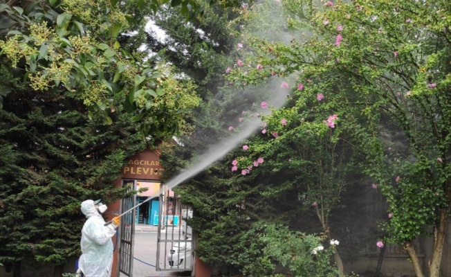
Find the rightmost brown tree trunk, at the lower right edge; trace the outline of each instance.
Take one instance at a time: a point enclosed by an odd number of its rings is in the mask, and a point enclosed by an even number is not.
[[[432,250],[432,260],[430,262],[430,277],[440,276],[441,256],[443,254],[443,243],[445,242],[447,224],[448,209],[442,208],[440,211],[439,225],[434,229],[434,249]]]

